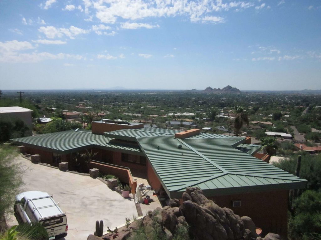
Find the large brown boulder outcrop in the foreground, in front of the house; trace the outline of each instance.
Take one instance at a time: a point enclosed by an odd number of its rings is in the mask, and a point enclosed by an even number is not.
[[[195,240],[280,240],[277,234],[269,233],[265,238],[256,235],[256,227],[251,218],[239,217],[229,208],[221,208],[207,199],[202,190],[187,188],[182,196],[182,204],[171,199],[169,206],[157,208],[140,220],[118,229],[117,233],[108,233],[102,239],[179,239]],[[87,240],[101,239],[90,235]]]

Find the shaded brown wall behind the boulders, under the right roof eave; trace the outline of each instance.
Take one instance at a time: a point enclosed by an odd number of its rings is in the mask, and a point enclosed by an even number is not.
[[[262,236],[269,232],[277,233],[287,239],[288,191],[247,193],[228,196],[209,197],[220,207],[227,207],[240,217],[249,216],[257,228],[263,230]],[[240,207],[233,207],[232,201],[241,200]]]

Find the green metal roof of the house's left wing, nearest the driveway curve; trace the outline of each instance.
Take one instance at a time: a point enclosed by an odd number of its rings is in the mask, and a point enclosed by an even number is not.
[[[119,151],[135,152],[142,155],[139,146],[112,143],[109,142],[110,140],[111,138],[105,138],[103,135],[93,134],[91,131],[80,129],[11,139],[16,144],[47,149],[59,154],[71,153],[88,147],[98,147],[103,149],[116,148]]]

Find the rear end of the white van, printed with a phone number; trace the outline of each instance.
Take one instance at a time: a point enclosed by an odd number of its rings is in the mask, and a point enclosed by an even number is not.
[[[41,219],[40,223],[46,228],[49,240],[56,239],[56,236],[57,238],[67,236],[68,225],[66,215]]]

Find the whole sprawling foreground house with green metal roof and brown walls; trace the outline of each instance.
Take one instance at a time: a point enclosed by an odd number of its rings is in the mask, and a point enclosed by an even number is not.
[[[101,127],[104,124],[132,128],[103,132],[110,128]],[[127,124],[98,121],[92,123],[96,133],[77,129],[12,142],[53,165],[71,161],[75,152],[93,149],[100,162],[144,174],[155,191],[170,198],[179,199],[187,187],[198,187],[221,207],[250,216],[264,232],[287,236],[289,190],[305,188],[307,181],[254,157],[260,145],[247,142],[250,138],[201,133],[200,129]],[[91,164],[97,168],[102,165]]]

